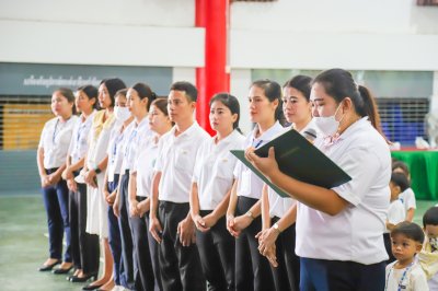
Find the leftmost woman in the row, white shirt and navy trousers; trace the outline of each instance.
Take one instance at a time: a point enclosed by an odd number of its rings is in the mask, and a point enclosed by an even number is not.
[[[47,213],[49,258],[39,268],[48,271],[61,263],[62,237],[66,233],[66,252],[64,261],[56,272],[70,270],[70,221],[68,213],[68,188],[61,178],[66,168],[67,152],[71,133],[77,120],[74,113],[74,95],[70,89],[59,89],[51,95],[51,112],[55,118],[48,120],[43,128],[38,150],[37,165]]]

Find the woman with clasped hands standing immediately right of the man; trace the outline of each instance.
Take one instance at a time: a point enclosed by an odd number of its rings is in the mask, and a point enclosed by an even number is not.
[[[211,290],[234,289],[234,240],[227,232],[226,212],[237,163],[230,150],[242,149],[245,140],[239,131],[239,115],[237,97],[219,93],[210,100],[210,125],[216,136],[198,149],[193,175],[191,214]]]

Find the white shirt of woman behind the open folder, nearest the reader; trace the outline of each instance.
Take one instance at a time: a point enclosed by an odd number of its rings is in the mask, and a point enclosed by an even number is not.
[[[300,133],[303,135],[304,131],[313,129],[314,132],[316,132],[316,136],[319,135],[319,129],[314,125],[314,123],[311,120],[301,131]],[[292,126],[285,128],[285,130],[293,130]],[[297,200],[295,200],[291,197],[281,197],[279,196],[275,190],[273,190],[270,187],[267,188],[267,195],[268,195],[268,200],[269,200],[269,217],[274,218],[283,218],[286,212],[296,203]]]

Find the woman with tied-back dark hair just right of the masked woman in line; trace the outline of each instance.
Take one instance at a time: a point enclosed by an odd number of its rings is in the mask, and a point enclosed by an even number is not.
[[[130,184],[130,172],[137,161],[141,144],[151,136],[149,128],[148,110],[157,95],[145,83],[137,83],[129,88],[127,93],[128,108],[134,116],[134,121],[126,129],[123,146],[123,163],[117,197],[113,205],[119,219],[122,234],[122,255],[126,275],[127,289],[151,290],[154,286],[153,270],[148,254],[149,249],[145,221],[137,211],[138,201],[131,199],[130,193],[136,184]],[[132,194],[136,197],[135,194]],[[145,232],[143,232],[145,231]]]

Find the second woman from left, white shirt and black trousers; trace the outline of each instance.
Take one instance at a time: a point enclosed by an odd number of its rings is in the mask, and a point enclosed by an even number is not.
[[[83,167],[88,151],[88,137],[97,105],[97,89],[92,85],[81,86],[76,92],[76,108],[81,115],[74,125],[71,136],[67,167],[62,178],[67,181],[69,194],[69,216],[71,229],[71,254],[74,264],[74,273],[68,279],[78,277],[87,281],[88,276],[96,276],[99,257],[90,254],[99,253],[99,241],[85,232],[87,228],[87,185],[78,184],[74,177]],[[94,259],[93,259],[94,258]]]

